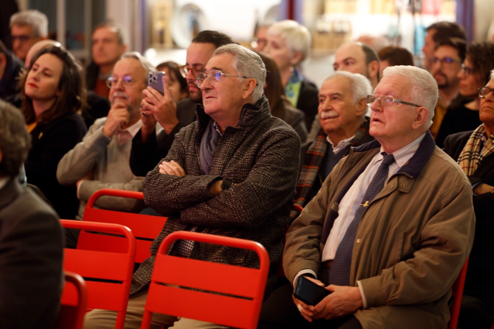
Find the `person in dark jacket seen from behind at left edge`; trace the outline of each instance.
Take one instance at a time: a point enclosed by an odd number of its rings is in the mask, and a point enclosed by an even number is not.
[[[62,292],[58,216],[17,175],[29,150],[18,109],[0,100],[0,328],[53,328]]]

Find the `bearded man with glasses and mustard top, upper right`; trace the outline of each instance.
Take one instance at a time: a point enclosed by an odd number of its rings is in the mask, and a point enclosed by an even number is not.
[[[459,94],[458,73],[465,60],[466,42],[459,38],[448,38],[436,43],[432,59],[431,74],[439,87],[439,99],[430,131],[434,139],[449,106],[456,106],[465,99]]]

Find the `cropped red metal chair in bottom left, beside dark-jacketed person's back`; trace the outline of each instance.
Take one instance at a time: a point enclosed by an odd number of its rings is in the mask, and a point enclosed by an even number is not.
[[[65,286],[55,329],[82,329],[87,305],[86,284],[79,274],[64,272],[64,276]]]

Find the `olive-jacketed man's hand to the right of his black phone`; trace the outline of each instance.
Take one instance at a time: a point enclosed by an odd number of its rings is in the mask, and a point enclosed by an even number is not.
[[[362,296],[358,287],[335,286],[326,287],[331,294],[314,306],[314,319],[337,319],[353,314],[363,307]]]

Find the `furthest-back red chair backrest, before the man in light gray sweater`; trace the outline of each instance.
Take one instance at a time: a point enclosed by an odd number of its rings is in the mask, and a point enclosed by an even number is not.
[[[138,213],[122,212],[115,210],[94,208],[96,200],[103,196],[123,197],[144,200],[142,192],[101,189],[91,195],[84,209],[83,221],[115,223],[124,225],[132,230],[136,238],[135,261],[142,261],[151,256],[149,251],[153,240],[161,233],[167,217],[141,215]],[[78,240],[78,248],[122,251],[125,241],[120,237],[102,236],[90,232],[81,233]]]

